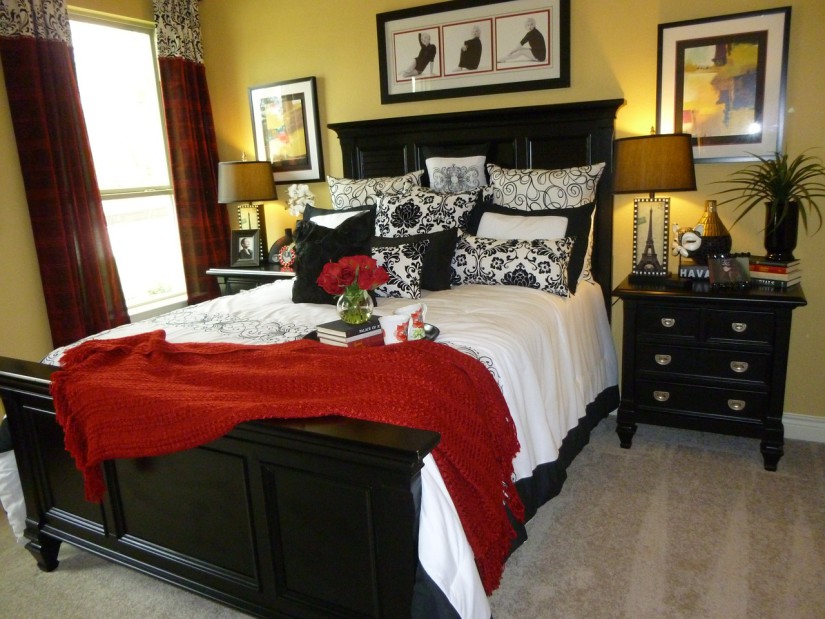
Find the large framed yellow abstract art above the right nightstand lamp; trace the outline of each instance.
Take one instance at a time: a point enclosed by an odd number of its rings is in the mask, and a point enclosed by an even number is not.
[[[782,150],[791,8],[659,25],[658,133],[690,133],[697,163]]]

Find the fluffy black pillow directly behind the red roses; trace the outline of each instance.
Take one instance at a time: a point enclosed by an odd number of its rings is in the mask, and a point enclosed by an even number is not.
[[[374,228],[375,214],[368,210],[363,215],[350,217],[337,228],[320,226],[311,219],[299,221],[295,231],[292,302],[335,305],[335,297],[318,285],[321,270],[327,262],[336,262],[344,256],[371,255]]]

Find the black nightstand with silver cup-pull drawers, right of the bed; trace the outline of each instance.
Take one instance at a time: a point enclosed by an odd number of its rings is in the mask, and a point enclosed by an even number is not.
[[[791,312],[802,286],[721,292],[622,282],[622,394],[616,432],[636,423],[762,439],[765,468],[783,454],[782,411]]]

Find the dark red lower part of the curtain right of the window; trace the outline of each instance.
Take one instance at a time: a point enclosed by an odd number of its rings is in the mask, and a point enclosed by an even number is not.
[[[229,264],[229,225],[218,204],[218,146],[201,63],[160,57],[172,184],[190,303],[220,294],[210,267]]]

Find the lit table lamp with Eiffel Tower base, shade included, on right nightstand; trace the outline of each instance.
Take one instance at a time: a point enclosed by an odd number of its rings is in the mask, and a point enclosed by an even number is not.
[[[693,191],[696,173],[687,133],[652,134],[614,142],[613,193],[647,193],[633,202],[631,283],[667,280],[670,198],[660,191]]]

